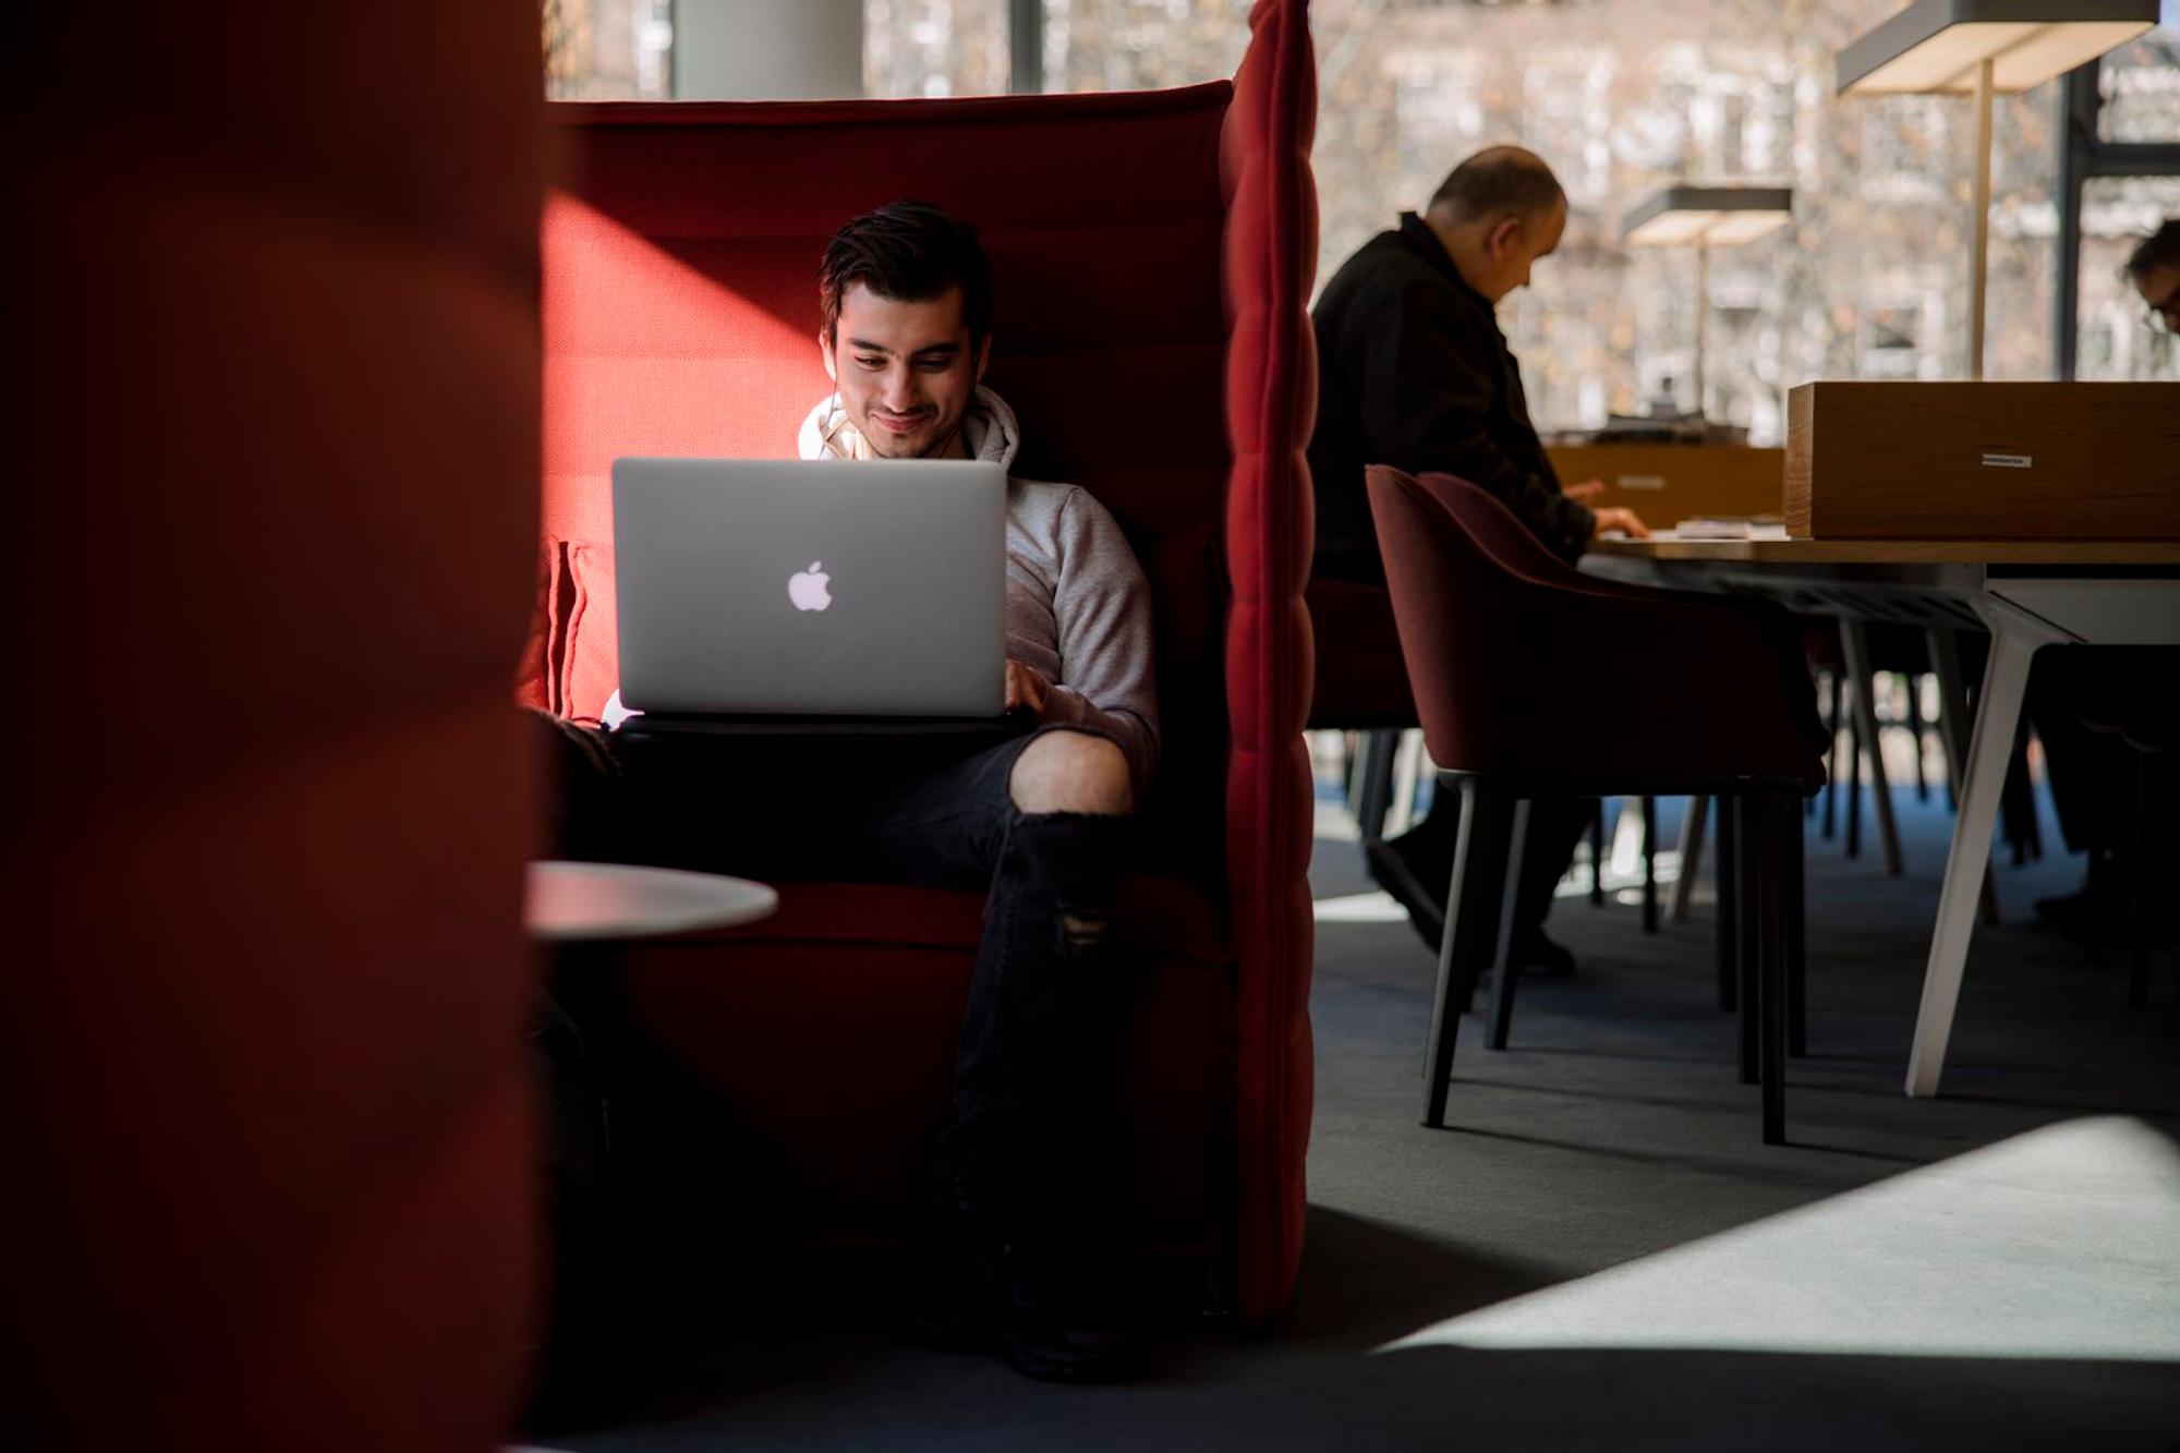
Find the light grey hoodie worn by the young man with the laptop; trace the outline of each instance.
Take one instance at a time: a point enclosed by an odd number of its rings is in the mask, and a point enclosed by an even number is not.
[[[961,441],[972,458],[1012,465],[1020,425],[979,386]],[[839,395],[809,412],[796,452],[870,458]],[[1053,683],[1046,722],[1094,731],[1127,753],[1142,796],[1158,768],[1151,587],[1121,526],[1075,484],[1007,476],[1007,657]]]

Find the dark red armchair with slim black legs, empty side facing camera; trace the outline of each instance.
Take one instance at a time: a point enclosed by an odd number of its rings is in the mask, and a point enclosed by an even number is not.
[[[1495,958],[1491,1041],[1506,1043],[1513,903],[1539,796],[1707,792],[1731,803],[1742,1076],[1764,1084],[1764,1141],[1785,1137],[1785,1054],[1801,938],[1801,801],[1825,783],[1825,731],[1790,620],[1761,600],[1591,580],[1546,556],[1513,513],[1450,476],[1367,471],[1402,655],[1461,846],[1439,953],[1424,1124],[1445,1124],[1463,1006]],[[1609,641],[1611,650],[1596,650]],[[1644,709],[1626,713],[1624,703]],[[1594,724],[1611,720],[1598,733]]]

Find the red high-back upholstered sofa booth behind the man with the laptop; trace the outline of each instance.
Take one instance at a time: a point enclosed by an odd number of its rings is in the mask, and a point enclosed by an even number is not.
[[[1310,1121],[1306,11],[1258,4],[1232,85],[554,107],[523,676],[528,700],[578,718],[615,685],[615,456],[794,454],[831,391],[826,236],[898,196],[972,220],[996,273],[985,382],[1022,419],[1016,469],[1103,500],[1155,596],[1164,764],[1121,903],[1134,969],[1110,1113],[1083,1154],[1112,1185],[1118,1244],[1230,1257],[1245,1313],[1288,1294]],[[896,1235],[944,1124],[983,901],[780,890],[770,923],[630,947],[619,973],[761,1145],[752,1193],[820,1237]]]

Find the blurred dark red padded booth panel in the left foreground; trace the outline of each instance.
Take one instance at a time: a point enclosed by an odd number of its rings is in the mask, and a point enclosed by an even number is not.
[[[486,1453],[534,1259],[538,11],[13,31],[9,1444]]]

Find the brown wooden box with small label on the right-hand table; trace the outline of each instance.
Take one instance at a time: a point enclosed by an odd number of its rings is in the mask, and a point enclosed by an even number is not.
[[[2180,384],[1803,384],[1796,539],[2180,539]]]

